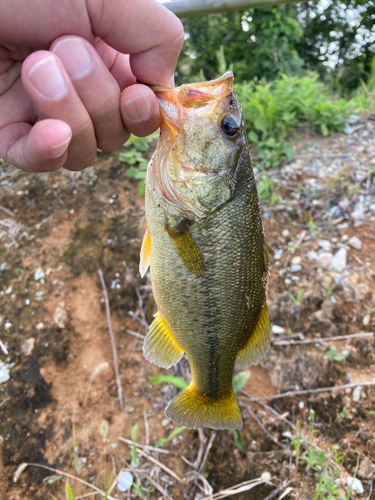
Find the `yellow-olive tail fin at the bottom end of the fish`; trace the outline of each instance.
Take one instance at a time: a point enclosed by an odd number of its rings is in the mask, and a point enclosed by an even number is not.
[[[233,391],[218,400],[198,393],[193,383],[169,402],[165,413],[170,420],[189,429],[241,429],[243,425]]]

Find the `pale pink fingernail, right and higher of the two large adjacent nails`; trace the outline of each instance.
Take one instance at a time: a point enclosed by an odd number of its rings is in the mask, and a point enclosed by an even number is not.
[[[82,78],[91,71],[92,60],[85,44],[79,38],[65,38],[52,52],[62,61],[70,78]]]

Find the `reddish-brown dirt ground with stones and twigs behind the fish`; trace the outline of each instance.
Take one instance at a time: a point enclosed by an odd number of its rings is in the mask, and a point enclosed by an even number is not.
[[[350,136],[296,134],[293,162],[258,174],[274,335],[238,394],[242,444],[231,432],[186,429],[162,451],[147,448],[175,429],[164,408],[178,391],[150,377],[188,379],[189,369],[186,359],[166,371],[142,355],[154,313],[149,277],[138,273],[144,199],[119,151],[78,173],[0,163],[0,377],[10,377],[0,383],[0,500],[64,499],[62,473],[75,499],[112,484],[111,498],[202,500],[260,477],[236,498],[348,498],[349,476],[364,490],[350,498],[375,498],[375,121],[359,125]],[[119,439],[135,425],[146,446],[138,457]],[[14,482],[24,462],[62,473],[29,466]],[[138,489],[117,489],[111,473],[121,470]]]

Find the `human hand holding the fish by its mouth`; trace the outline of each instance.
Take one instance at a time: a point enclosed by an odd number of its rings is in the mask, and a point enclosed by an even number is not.
[[[97,148],[160,124],[184,40],[154,0],[0,0],[0,157],[26,172],[82,170]]]

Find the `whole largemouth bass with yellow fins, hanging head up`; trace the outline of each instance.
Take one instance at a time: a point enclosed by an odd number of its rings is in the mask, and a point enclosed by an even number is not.
[[[170,368],[186,353],[191,384],[166,408],[189,428],[240,429],[235,368],[259,361],[270,342],[269,269],[259,198],[233,74],[154,87],[162,125],[146,180],[150,266],[158,312],[145,357]]]

